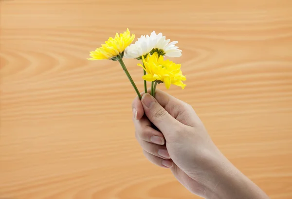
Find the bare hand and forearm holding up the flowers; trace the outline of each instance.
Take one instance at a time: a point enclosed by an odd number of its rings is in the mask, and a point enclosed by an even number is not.
[[[146,158],[168,168],[190,192],[206,199],[269,199],[213,143],[187,103],[156,90],[132,103],[136,139]]]

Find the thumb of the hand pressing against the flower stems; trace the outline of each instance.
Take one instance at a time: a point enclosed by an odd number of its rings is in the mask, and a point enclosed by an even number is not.
[[[142,97],[142,105],[147,118],[159,128],[167,140],[167,135],[180,126],[180,122],[172,117],[149,93]]]

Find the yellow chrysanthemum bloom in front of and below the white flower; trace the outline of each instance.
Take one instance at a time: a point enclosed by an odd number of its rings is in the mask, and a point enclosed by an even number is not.
[[[186,78],[181,71],[181,64],[176,64],[169,61],[169,59],[164,60],[164,57],[158,56],[157,52],[152,55],[148,54],[146,59],[144,56],[142,58],[144,66],[141,64],[138,64],[138,66],[141,66],[147,72],[143,76],[144,80],[157,81],[158,83],[164,82],[166,89],[169,89],[171,84],[184,89],[186,85],[182,81],[186,80]]]

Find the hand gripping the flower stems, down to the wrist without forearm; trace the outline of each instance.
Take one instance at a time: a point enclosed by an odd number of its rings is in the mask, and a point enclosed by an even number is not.
[[[171,168],[188,190],[204,197],[207,186],[212,186],[207,185],[213,178],[210,170],[215,169],[220,153],[193,108],[157,90],[156,100],[144,94],[142,103],[134,100],[133,109],[136,138],[146,158]]]

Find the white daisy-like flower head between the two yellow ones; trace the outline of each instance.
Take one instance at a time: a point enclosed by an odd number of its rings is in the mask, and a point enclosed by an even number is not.
[[[150,36],[141,36],[134,44],[131,44],[125,50],[126,58],[142,59],[142,56],[146,58],[147,54],[153,54],[157,52],[158,55],[165,55],[169,57],[180,57],[182,51],[175,46],[178,41],[170,42],[170,39],[165,39],[162,33],[156,35],[155,31]]]

